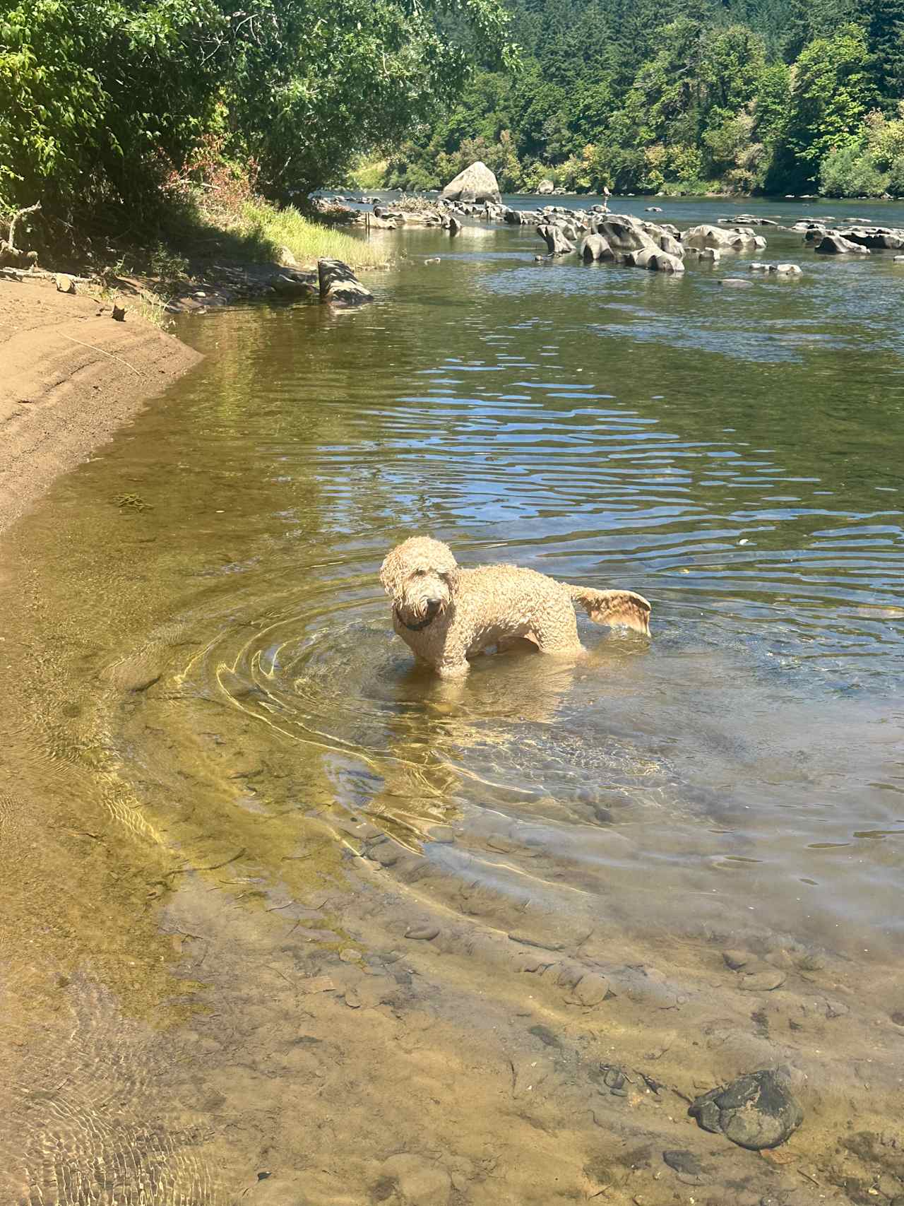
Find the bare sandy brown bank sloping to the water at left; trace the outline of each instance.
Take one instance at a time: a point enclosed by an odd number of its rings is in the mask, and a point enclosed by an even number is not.
[[[199,359],[96,298],[0,281],[0,531]]]

